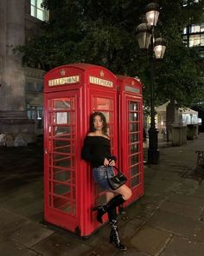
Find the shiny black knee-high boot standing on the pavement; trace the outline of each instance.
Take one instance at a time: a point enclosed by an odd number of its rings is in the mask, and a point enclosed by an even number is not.
[[[119,240],[116,208],[108,209],[108,218],[111,225],[110,243],[114,242],[119,250],[126,251],[127,247]]]

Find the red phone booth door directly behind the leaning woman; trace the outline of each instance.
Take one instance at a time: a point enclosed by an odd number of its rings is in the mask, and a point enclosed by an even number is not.
[[[107,133],[110,136],[112,154],[117,155],[118,151],[118,142],[117,142],[117,126],[116,118],[116,94],[108,93],[105,96],[101,96],[101,94],[97,95],[94,91],[92,94],[92,111],[102,112],[105,115],[108,130]],[[93,183],[93,205],[99,206],[106,204],[105,192],[97,185],[95,182]],[[95,213],[93,213],[95,215]],[[96,217],[93,217],[93,220],[96,220]],[[105,220],[105,219],[104,219]]]

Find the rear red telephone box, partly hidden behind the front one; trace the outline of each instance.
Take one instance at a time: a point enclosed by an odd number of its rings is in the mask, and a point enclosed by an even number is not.
[[[126,207],[143,195],[143,98],[141,82],[124,75],[117,77],[119,165],[132,190]]]

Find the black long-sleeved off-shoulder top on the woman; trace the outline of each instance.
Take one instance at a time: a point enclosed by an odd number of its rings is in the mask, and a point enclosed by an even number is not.
[[[81,158],[90,161],[92,167],[104,165],[105,158],[116,161],[111,154],[111,141],[103,136],[86,136],[81,151]]]

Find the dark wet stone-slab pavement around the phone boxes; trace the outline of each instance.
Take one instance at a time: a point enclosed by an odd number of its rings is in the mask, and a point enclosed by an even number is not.
[[[109,244],[108,224],[85,240],[43,222],[40,138],[0,148],[0,255],[203,256],[204,171],[195,167],[195,150],[204,150],[204,134],[181,147],[160,140],[159,148],[159,165],[144,166],[143,197],[118,216],[126,252]]]

